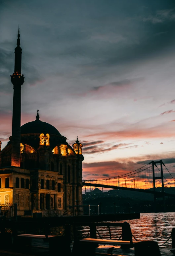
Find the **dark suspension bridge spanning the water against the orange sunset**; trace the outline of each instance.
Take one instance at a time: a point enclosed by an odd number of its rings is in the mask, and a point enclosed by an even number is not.
[[[153,194],[154,205],[156,207],[156,198],[163,199],[165,210],[165,196],[175,197],[175,179],[165,166],[162,160],[152,161],[141,168],[118,175],[112,178],[99,180],[83,180],[83,186],[101,187],[137,191],[142,193]],[[157,187],[161,191],[156,191]],[[169,187],[171,193],[166,193],[164,187]]]

